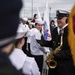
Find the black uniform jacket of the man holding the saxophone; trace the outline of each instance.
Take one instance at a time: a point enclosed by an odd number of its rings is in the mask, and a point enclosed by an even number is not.
[[[53,30],[52,41],[37,41],[42,46],[52,47],[55,50],[60,45],[60,35],[58,35],[57,28]],[[75,75],[72,55],[68,45],[68,27],[64,28],[63,46],[59,53],[54,56],[57,62],[55,69],[49,69],[49,75]]]

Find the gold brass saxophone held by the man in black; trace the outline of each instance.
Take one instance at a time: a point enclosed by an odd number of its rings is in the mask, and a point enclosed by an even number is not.
[[[54,60],[53,55],[56,55],[61,50],[61,47],[63,45],[63,33],[64,31],[61,30],[60,45],[55,50],[53,50],[52,53],[50,53],[46,58],[46,64],[48,65],[49,68],[54,69],[57,66],[57,62]]]

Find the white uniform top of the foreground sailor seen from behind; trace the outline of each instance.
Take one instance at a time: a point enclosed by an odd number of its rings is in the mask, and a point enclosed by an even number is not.
[[[9,56],[11,63],[25,75],[40,75],[39,68],[33,57],[28,57],[22,50],[15,48]]]

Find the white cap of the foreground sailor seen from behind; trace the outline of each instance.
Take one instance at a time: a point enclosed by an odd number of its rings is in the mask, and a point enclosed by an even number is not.
[[[24,37],[26,31],[25,31],[25,27],[24,25],[19,25],[18,30],[17,30],[17,36],[15,39],[20,39],[22,37]]]

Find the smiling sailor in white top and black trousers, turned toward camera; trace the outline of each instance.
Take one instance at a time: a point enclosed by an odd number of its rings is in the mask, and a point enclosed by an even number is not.
[[[43,68],[43,54],[45,53],[45,49],[41,47],[39,43],[37,43],[36,39],[39,39],[39,40],[41,39],[42,34],[40,31],[42,29],[43,24],[44,24],[44,21],[40,19],[35,19],[35,28],[33,28],[30,33],[31,54],[35,58],[41,73]]]

